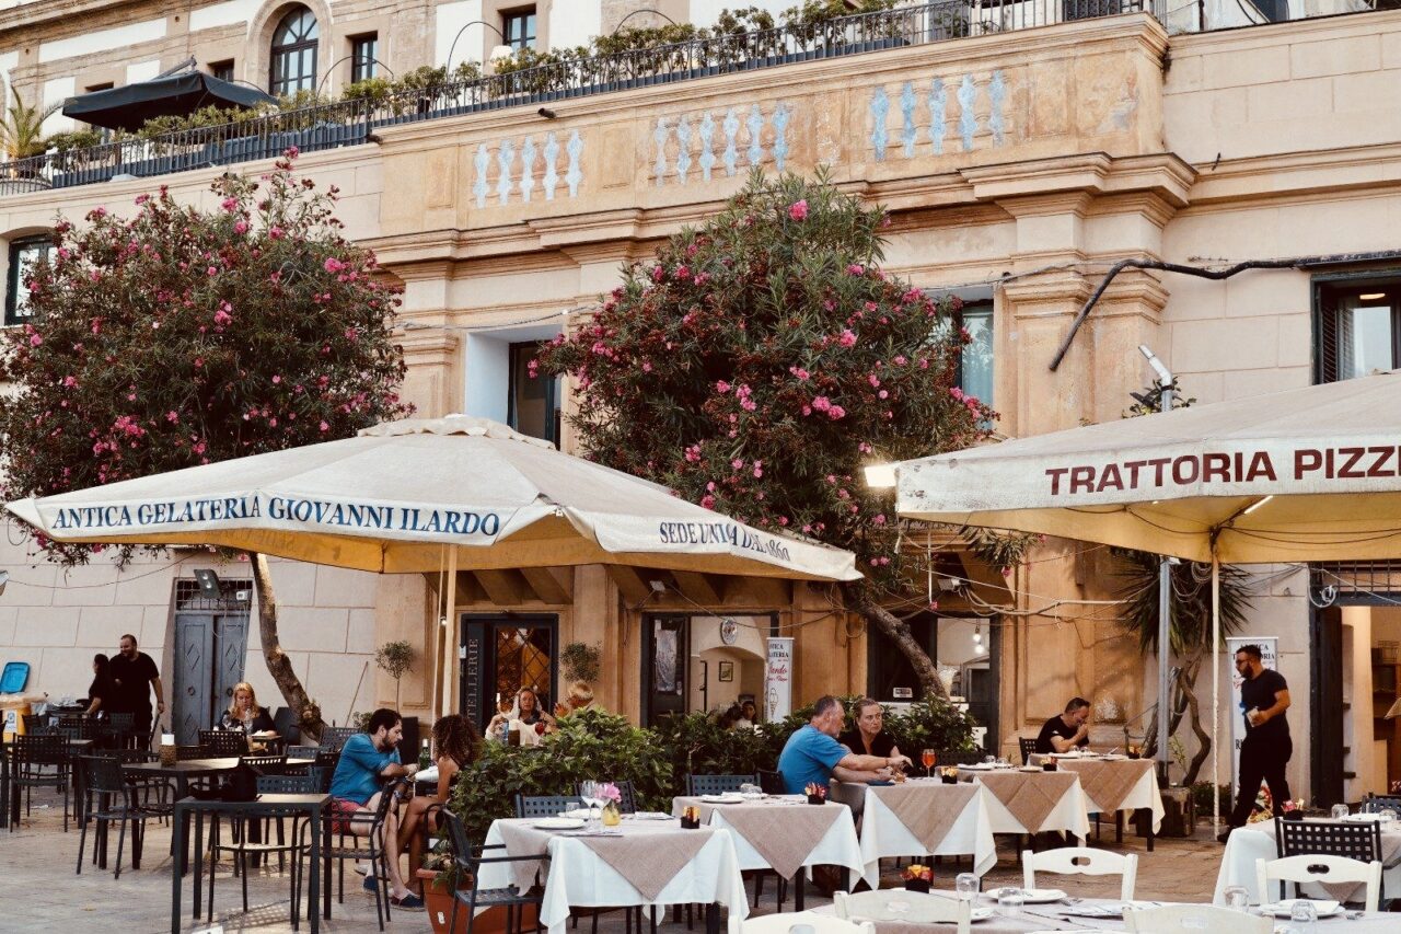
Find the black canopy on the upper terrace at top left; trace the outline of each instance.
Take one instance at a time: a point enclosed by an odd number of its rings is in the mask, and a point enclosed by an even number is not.
[[[202,107],[255,108],[276,98],[248,84],[185,72],[150,81],[70,97],[63,115],[94,126],[139,130],[157,116],[186,116]]]

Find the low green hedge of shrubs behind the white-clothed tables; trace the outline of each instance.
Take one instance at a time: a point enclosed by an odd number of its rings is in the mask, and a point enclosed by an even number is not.
[[[845,697],[848,714],[856,697]],[[559,732],[538,747],[488,742],[453,792],[453,811],[474,840],[486,839],[492,820],[514,815],[516,795],[572,795],[586,780],[630,780],[637,805],[670,811],[685,794],[688,774],[752,774],[778,767],[789,735],[811,708],[758,729],[720,729],[706,714],[674,715],[651,729],[625,718],[584,710],[559,721]],[[850,722],[848,722],[850,726]],[[885,729],[901,750],[971,749],[972,719],[940,700],[919,701],[909,715],[887,715]]]

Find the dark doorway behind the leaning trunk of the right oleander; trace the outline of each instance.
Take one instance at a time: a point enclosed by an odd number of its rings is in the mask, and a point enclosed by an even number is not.
[[[984,745],[998,742],[998,672],[1002,656],[999,617],[957,617],[916,613],[906,620],[911,635],[936,668],[955,669],[954,696],[968,703],[968,712],[988,729]],[[902,704],[919,697],[919,679],[905,654],[878,630],[867,630],[867,693],[883,704]]]

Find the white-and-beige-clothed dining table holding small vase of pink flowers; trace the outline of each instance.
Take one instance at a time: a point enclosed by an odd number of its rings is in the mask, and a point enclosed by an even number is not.
[[[478,874],[483,889],[516,885],[524,892],[544,871],[539,921],[549,934],[566,934],[570,906],[710,905],[709,934],[719,934],[716,907],[727,912],[729,934],[740,934],[748,914],[734,834],[719,827],[685,829],[664,813],[625,815],[615,827],[511,818],[492,822],[486,846],[504,846],[511,857],[549,857],[548,869],[511,861],[483,864]]]

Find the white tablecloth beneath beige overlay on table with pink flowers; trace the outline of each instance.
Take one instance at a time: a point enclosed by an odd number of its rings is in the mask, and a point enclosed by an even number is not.
[[[486,832],[486,844],[502,844],[502,832],[492,822]],[[525,820],[528,823],[528,820]],[[626,837],[637,837],[639,846],[647,846],[650,830],[658,827],[675,829],[677,823],[625,820],[622,832]],[[656,846],[656,841],[653,841]],[[545,900],[541,906],[541,924],[551,934],[566,934],[569,906],[622,907],[626,905],[709,905],[716,902],[729,912],[730,934],[740,934],[740,923],[748,914],[748,899],[744,893],[744,879],[740,877],[740,860],[736,855],[734,840],[726,830],[716,830],[703,847],[651,902],[632,886],[611,865],[604,862],[579,837],[551,836],[548,853],[549,878],[545,881]],[[525,855],[514,854],[510,855]],[[509,862],[489,862],[482,867],[482,888],[502,888],[511,884]]]

